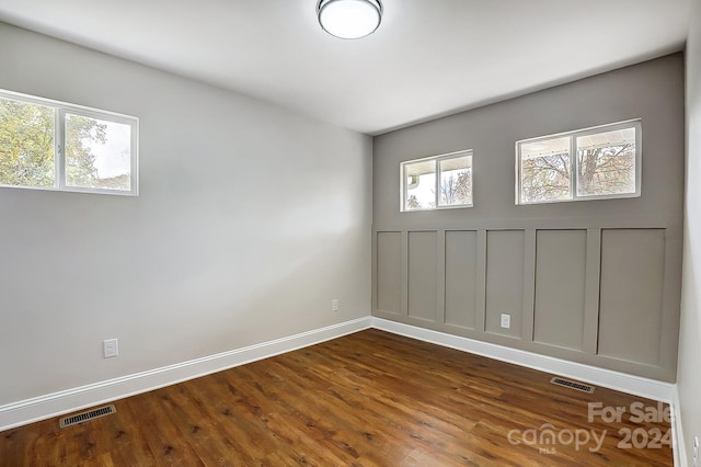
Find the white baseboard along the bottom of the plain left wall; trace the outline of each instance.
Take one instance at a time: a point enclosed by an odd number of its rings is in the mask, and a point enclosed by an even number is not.
[[[0,406],[0,431],[318,344],[368,329],[371,322],[370,317],[364,317],[256,345]]]

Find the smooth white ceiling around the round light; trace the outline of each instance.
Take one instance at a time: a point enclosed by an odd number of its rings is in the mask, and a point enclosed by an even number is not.
[[[317,0],[2,0],[0,21],[371,135],[683,47],[690,0],[382,0],[343,41]]]

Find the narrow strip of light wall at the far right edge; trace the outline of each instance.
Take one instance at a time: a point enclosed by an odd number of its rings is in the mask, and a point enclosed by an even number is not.
[[[701,0],[693,0],[687,42],[687,183],[677,385],[686,453],[701,436]]]

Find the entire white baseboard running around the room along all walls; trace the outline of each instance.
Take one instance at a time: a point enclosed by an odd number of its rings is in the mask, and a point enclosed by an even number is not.
[[[0,406],[0,431],[194,379],[368,328],[377,328],[421,341],[660,400],[673,403],[673,410],[678,408],[675,399],[676,386],[668,383],[446,334],[381,318],[364,317],[288,338]],[[676,420],[679,423],[680,418],[677,415]],[[679,429],[674,426],[673,423],[673,430],[678,431]],[[678,433],[681,432],[678,431]],[[679,451],[683,449],[682,444],[679,443]]]

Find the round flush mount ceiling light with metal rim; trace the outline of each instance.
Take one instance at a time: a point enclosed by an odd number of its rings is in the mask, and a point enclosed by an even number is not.
[[[382,21],[380,0],[319,0],[321,27],[332,36],[360,38],[372,34]]]

